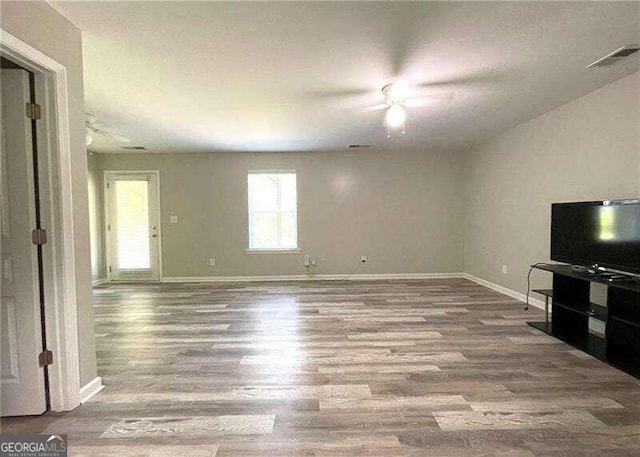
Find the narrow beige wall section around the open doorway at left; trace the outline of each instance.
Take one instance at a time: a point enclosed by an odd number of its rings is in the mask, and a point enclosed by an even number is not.
[[[2,28],[64,65],[69,90],[80,382],[96,377],[80,30],[44,1],[0,2]]]

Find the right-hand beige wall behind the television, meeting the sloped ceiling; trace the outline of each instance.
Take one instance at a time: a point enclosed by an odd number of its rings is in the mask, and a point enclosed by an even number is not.
[[[528,265],[549,261],[551,203],[640,196],[640,73],[473,148],[466,166],[465,271],[525,292]]]

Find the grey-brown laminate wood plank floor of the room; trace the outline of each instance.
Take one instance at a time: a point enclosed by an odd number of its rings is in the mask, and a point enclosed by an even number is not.
[[[86,456],[638,456],[640,382],[464,279],[95,289]]]

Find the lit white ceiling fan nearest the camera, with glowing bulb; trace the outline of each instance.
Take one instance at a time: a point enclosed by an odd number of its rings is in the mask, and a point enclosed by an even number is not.
[[[385,85],[382,89],[384,103],[362,108],[362,112],[387,110],[385,124],[387,125],[387,138],[391,138],[391,129],[402,127],[401,133],[405,133],[405,121],[407,119],[406,108],[422,107],[434,103],[444,104],[453,100],[453,92],[441,92],[422,96],[412,96],[411,86],[403,80]]]

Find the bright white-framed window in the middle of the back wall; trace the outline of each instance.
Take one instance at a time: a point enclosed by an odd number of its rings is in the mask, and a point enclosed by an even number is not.
[[[298,248],[295,171],[250,171],[249,249]]]

